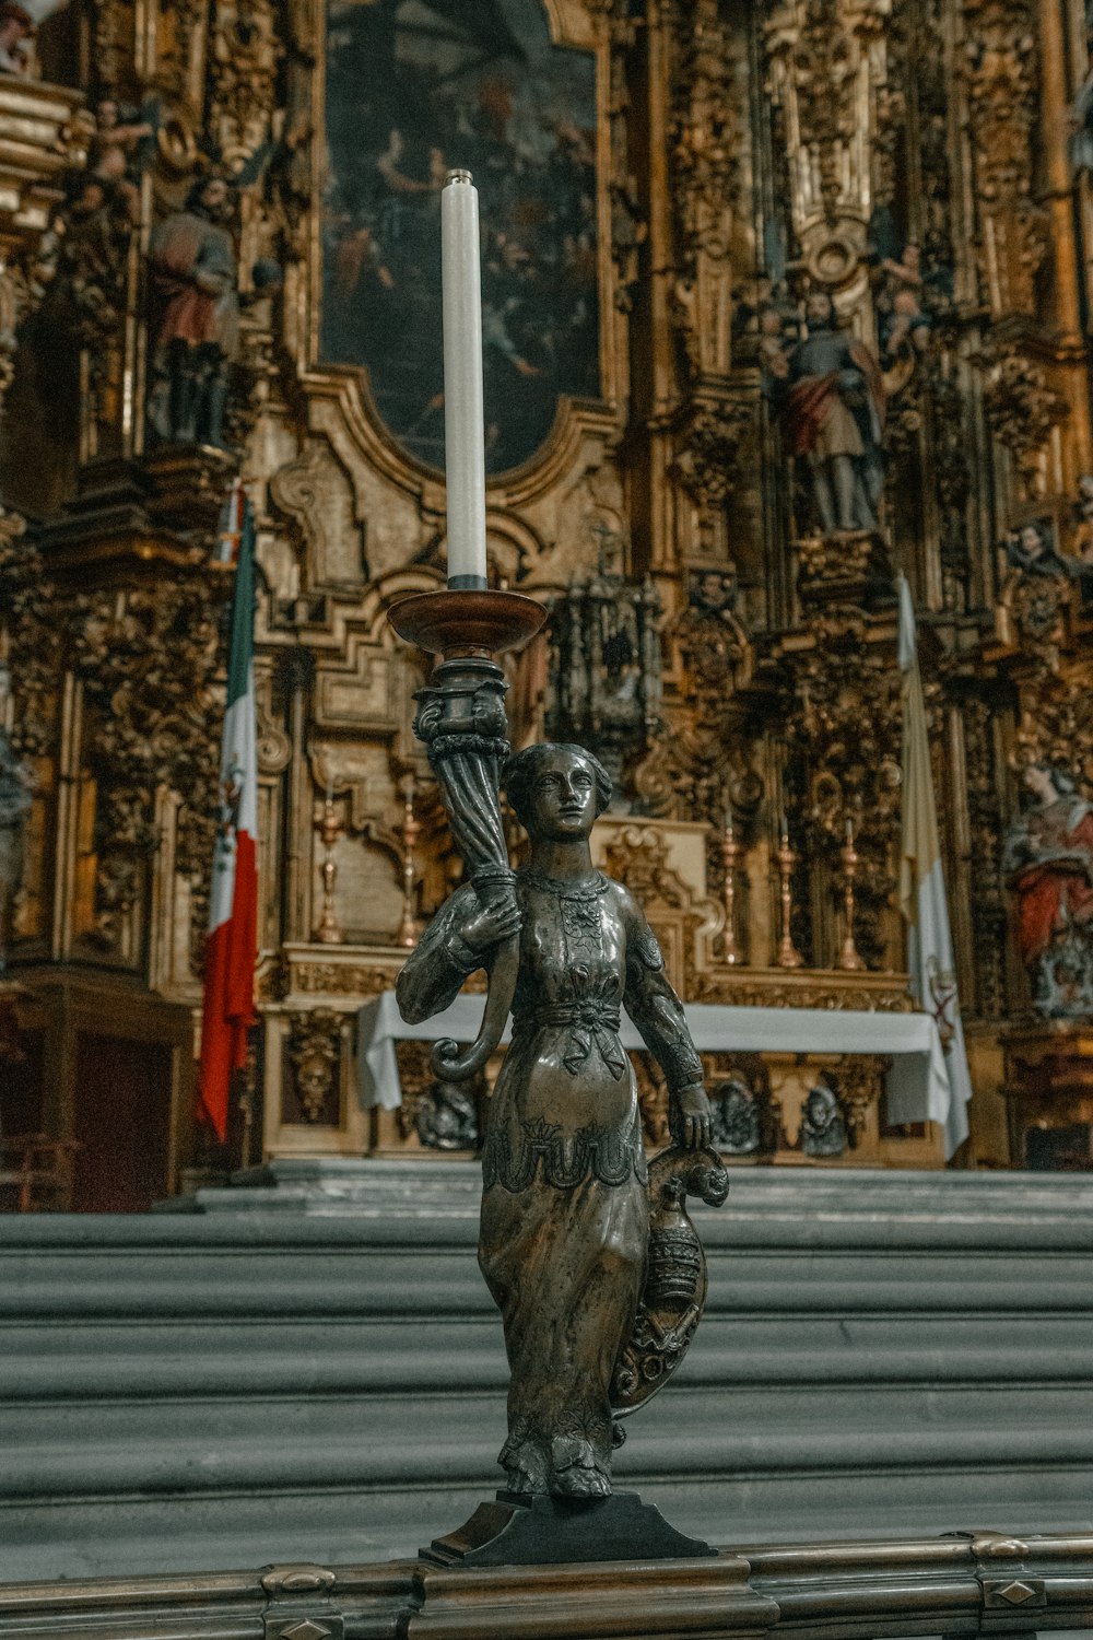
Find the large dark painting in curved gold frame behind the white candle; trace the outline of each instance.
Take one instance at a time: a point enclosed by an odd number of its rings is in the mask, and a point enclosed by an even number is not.
[[[444,174],[482,218],[487,471],[600,397],[595,62],[539,0],[329,0],[323,359],[369,371],[380,418],[444,462]]]

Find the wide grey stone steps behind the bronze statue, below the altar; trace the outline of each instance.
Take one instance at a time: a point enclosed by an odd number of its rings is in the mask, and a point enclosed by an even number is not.
[[[464,1163],[0,1217],[0,1581],[413,1555],[498,1484]],[[737,1169],[618,1481],[714,1543],[1093,1528],[1093,1181]]]

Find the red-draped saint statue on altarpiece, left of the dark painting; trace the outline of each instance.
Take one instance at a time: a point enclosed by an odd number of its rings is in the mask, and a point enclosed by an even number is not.
[[[228,371],[239,351],[236,249],[223,177],[202,177],[152,235],[149,431],[161,443],[223,448]]]

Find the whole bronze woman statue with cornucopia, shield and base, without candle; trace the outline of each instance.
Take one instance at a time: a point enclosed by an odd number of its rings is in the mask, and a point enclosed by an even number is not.
[[[710,1150],[701,1063],[657,940],[592,863],[611,781],[575,745],[508,756],[492,656],[537,630],[533,600],[449,590],[408,599],[390,618],[444,654],[418,697],[416,731],[467,864],[467,882],[406,959],[398,1004],[408,1022],[426,1020],[487,969],[478,1041],[464,1055],[449,1041],[434,1050],[436,1074],[456,1082],[485,1064],[513,1018],[483,1138],[478,1240],[511,1368],[506,1491],[431,1553],[477,1565],[710,1553],[631,1494],[613,1497],[619,1419],[675,1371],[705,1302],[685,1199],[723,1202],[728,1174]],[[516,872],[501,784],[531,840]],[[669,1086],[672,1146],[649,1166],[623,1009]],[[598,1530],[577,1509],[595,1501],[608,1506]]]

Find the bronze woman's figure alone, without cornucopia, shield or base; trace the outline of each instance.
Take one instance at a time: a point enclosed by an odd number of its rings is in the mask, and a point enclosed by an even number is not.
[[[511,1366],[500,1463],[516,1496],[606,1497],[621,1440],[613,1376],[634,1333],[651,1232],[623,1007],[664,1069],[675,1145],[700,1153],[687,1166],[710,1164],[706,1200],[723,1200],[728,1179],[706,1150],[701,1061],[657,941],[628,891],[592,864],[606,769],[580,746],[541,745],[510,759],[503,784],[531,838],[529,864],[485,909],[470,886],[452,894],[406,959],[398,1005],[406,1020],[429,1018],[519,935],[478,1240]]]

